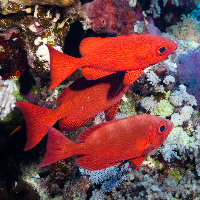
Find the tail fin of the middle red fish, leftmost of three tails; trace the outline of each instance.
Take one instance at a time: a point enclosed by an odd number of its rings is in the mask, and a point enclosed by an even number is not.
[[[16,102],[26,121],[27,141],[24,151],[32,149],[47,133],[46,115],[52,115],[51,110],[27,102]]]

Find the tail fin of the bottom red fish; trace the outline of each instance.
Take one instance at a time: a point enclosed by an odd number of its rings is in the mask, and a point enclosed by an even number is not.
[[[75,155],[74,149],[76,149],[76,143],[72,142],[60,131],[56,130],[53,127],[47,126],[47,129],[48,139],[46,153],[37,168],[50,165],[59,160],[63,160],[65,158]]]

